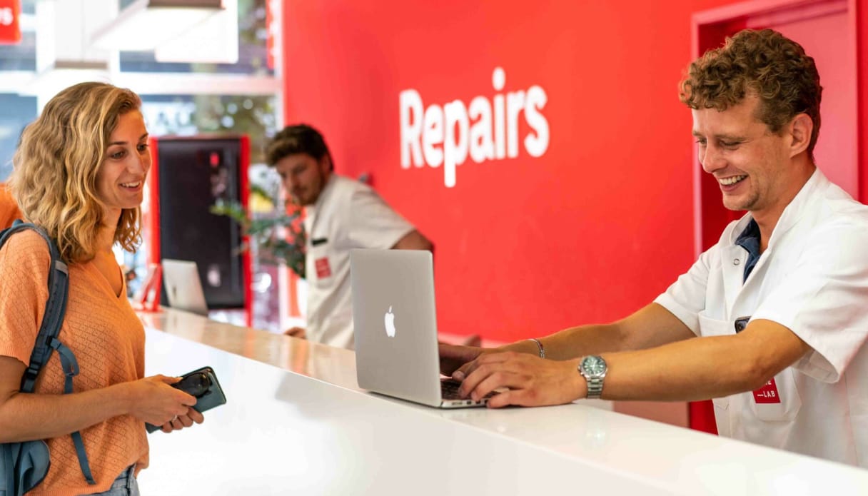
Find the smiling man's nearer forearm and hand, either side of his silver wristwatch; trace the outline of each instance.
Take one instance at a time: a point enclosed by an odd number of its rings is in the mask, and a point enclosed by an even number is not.
[[[792,330],[756,320],[732,336],[709,336],[650,349],[603,353],[608,363],[602,398],[608,400],[704,400],[760,388],[804,356],[810,347]],[[496,388],[510,390],[489,401],[540,406],[585,397],[579,360],[542,360],[526,354],[484,354],[464,366],[460,391],[476,400]]]

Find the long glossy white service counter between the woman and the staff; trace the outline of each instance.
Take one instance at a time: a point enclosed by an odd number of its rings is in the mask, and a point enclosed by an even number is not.
[[[209,365],[227,404],[150,434],[145,496],[868,493],[868,471],[591,408],[437,410],[358,389],[351,351],[165,310],[148,375]]]

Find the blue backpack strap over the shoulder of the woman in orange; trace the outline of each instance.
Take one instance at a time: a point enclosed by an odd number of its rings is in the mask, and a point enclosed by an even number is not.
[[[63,317],[66,314],[66,303],[69,297],[69,267],[61,259],[60,250],[48,232],[38,225],[22,222],[21,220],[16,220],[9,229],[0,232],[0,247],[3,247],[12,234],[25,229],[38,232],[46,244],[48,244],[49,254],[51,255],[51,269],[49,270],[49,299],[45,302],[43,322],[39,326],[36,344],[33,347],[33,352],[30,354],[30,364],[21,378],[21,391],[23,393],[33,392],[34,388],[36,388],[36,377],[39,376],[39,371],[48,363],[51,352],[56,349],[60,356],[63,374],[66,375],[63,393],[69,394],[72,393],[72,378],[78,375],[78,362],[72,350],[57,339],[63,324]],[[96,484],[93,474],[90,472],[88,454],[84,450],[82,434],[78,431],[72,433],[72,441],[76,445],[78,465],[82,468],[84,479],[90,485]]]

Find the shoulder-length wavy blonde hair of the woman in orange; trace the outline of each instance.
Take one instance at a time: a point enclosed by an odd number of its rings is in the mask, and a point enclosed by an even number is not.
[[[132,91],[102,82],[62,90],[24,128],[12,159],[10,190],[25,219],[56,239],[69,263],[95,256],[104,204],[96,173],[121,115],[141,108]],[[135,251],[141,242],[140,207],[123,209],[115,243]]]

